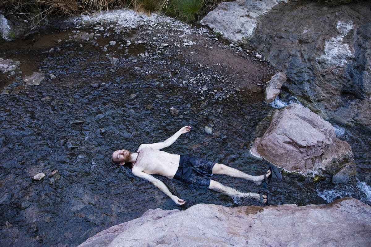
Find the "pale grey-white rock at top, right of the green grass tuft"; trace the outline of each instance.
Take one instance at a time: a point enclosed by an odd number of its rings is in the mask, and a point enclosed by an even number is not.
[[[237,0],[220,3],[201,23],[232,41],[250,39],[256,29],[256,19],[286,0]]]

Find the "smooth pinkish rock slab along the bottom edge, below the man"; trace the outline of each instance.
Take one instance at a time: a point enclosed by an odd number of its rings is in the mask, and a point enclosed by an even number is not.
[[[150,209],[79,247],[371,246],[371,207],[354,198],[328,205]]]

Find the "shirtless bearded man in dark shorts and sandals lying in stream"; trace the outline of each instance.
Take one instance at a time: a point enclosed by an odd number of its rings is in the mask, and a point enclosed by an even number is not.
[[[120,166],[127,162],[131,162],[132,173],[135,176],[144,178],[153,183],[178,205],[183,205],[185,201],[171,194],[165,184],[151,176],[151,174],[160,174],[169,179],[174,178],[184,183],[206,186],[211,190],[219,191],[231,197],[252,197],[267,203],[267,196],[257,193],[242,193],[234,188],[224,186],[217,181],[211,180],[210,178],[211,174],[224,174],[232,177],[245,178],[256,184],[261,184],[264,179],[267,179],[271,175],[270,170],[261,176],[251,176],[232,167],[208,161],[203,158],[160,151],[160,149],[173,144],[181,134],[187,133],[190,130],[190,126],[184,126],[163,142],[141,144],[136,153],[131,153],[125,149],[116,150],[112,153],[112,161],[115,164],[120,164]]]

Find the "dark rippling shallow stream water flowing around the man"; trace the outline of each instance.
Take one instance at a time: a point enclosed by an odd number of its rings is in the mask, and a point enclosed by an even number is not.
[[[197,203],[260,205],[256,200],[229,198],[157,176],[187,201],[176,206],[154,185],[133,176],[129,168],[113,165],[111,153],[118,148],[136,151],[141,143],[163,141],[190,125],[192,131],[164,151],[263,174],[268,163],[249,156],[250,143],[263,133],[258,126],[262,121],[266,124],[263,119],[274,110],[261,96],[252,98],[240,91],[237,97],[242,100],[200,100],[193,89],[178,84],[198,73],[198,68],[181,59],[141,64],[154,73],[138,76],[131,61],[114,66],[105,51],[88,43],[80,47],[81,42],[71,41],[57,53],[46,52],[55,45],[52,40],[65,35],[43,33],[0,44],[1,57],[24,61],[23,75],[0,77],[1,87],[11,88],[9,95],[0,97],[1,246],[77,246],[149,208],[183,210]],[[125,56],[135,56],[141,49]],[[23,76],[38,69],[57,79],[25,87]],[[91,83],[98,84],[92,87]],[[170,107],[178,109],[179,115],[171,116]],[[283,180],[273,180],[264,189],[240,178],[214,175],[213,179],[240,191],[263,189],[270,193],[272,205],[323,204],[347,196],[371,204],[371,134],[332,124],[354,152],[358,173],[353,181],[336,185],[328,176],[313,183],[311,178],[283,174]],[[206,125],[213,128],[213,134],[205,133]],[[49,178],[55,169],[60,177]],[[39,172],[46,177],[32,181]],[[12,226],[5,226],[6,221]]]

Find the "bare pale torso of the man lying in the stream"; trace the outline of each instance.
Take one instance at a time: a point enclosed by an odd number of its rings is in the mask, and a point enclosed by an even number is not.
[[[147,174],[160,174],[173,178],[179,166],[179,154],[170,154],[147,146],[139,146],[138,158],[133,169],[140,169]]]

